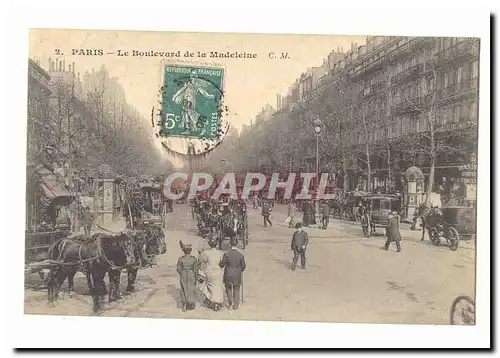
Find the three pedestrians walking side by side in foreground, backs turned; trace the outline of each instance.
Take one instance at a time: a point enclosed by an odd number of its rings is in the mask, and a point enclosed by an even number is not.
[[[222,253],[217,249],[215,240],[204,241],[196,258],[192,255],[192,244],[180,242],[184,255],[177,261],[177,272],[180,276],[183,311],[196,308],[198,289],[205,296],[204,305],[214,311],[222,308],[224,290],[228,308],[239,308],[246,262],[243,254],[236,249],[238,242],[235,238],[231,238],[230,244],[231,249]]]

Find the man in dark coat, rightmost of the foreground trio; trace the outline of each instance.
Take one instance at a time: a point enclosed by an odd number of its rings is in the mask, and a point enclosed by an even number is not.
[[[224,269],[224,285],[229,301],[229,309],[237,310],[240,304],[240,288],[243,271],[246,269],[245,256],[236,247],[238,241],[231,238],[231,249],[222,256],[219,266]]]

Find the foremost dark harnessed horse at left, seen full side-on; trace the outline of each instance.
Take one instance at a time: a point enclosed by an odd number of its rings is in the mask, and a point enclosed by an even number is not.
[[[106,273],[132,265],[137,260],[133,238],[124,233],[115,236],[98,233],[88,241],[76,238],[58,240],[49,248],[49,259],[55,262],[55,267],[50,270],[47,277],[49,303],[57,300],[59,289],[66,278],[69,288],[74,288],[73,278],[76,272],[81,270],[87,276],[94,312],[100,310],[100,296],[106,294],[104,283]],[[117,291],[115,283],[110,275],[110,301]]]

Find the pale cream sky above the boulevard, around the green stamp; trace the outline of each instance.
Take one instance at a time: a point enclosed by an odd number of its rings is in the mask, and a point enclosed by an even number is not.
[[[320,66],[331,50],[350,49],[352,42],[365,43],[364,36],[275,35],[229,33],[180,33],[147,31],[98,31],[33,29],[29,53],[48,70],[49,58],[65,60],[66,67],[75,62],[75,71],[83,74],[105,65],[111,76],[118,77],[127,101],[149,121],[151,108],[157,104],[161,68],[168,63],[221,65],[225,68],[225,104],[229,107],[231,125],[240,129],[269,103],[276,107],[276,94],[285,95],[301,73]],[[104,55],[84,55],[87,50],[101,49]],[[77,54],[73,54],[76,50]],[[83,51],[81,51],[83,50]],[[118,56],[129,52],[129,56]],[[180,51],[181,58],[132,56],[132,51]],[[186,51],[195,57],[185,58]],[[197,57],[198,51],[246,52],[257,58]],[[56,55],[56,52],[59,55]],[[271,59],[288,53],[288,59]],[[110,53],[110,54],[108,54]]]

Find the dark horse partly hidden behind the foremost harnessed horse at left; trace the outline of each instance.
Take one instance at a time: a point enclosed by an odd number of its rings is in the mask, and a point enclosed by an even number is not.
[[[127,293],[135,291],[135,281],[139,268],[146,266],[155,256],[163,255],[167,252],[165,234],[161,227],[157,225],[148,225],[143,232],[135,232],[131,236],[135,241],[135,255],[137,261],[125,267],[127,270]],[[121,270],[116,270],[111,274],[118,282],[117,287],[119,287]]]

